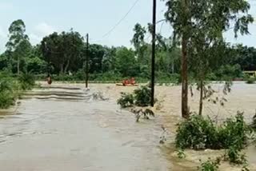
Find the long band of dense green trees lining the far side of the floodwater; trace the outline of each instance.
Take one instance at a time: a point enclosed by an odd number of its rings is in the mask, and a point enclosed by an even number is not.
[[[150,78],[151,45],[145,38],[151,33],[150,28],[150,25],[148,28],[140,24],[134,26],[134,37],[131,39],[134,49],[90,44],[90,80]],[[86,43],[78,32],[71,29],[53,33],[42,38],[38,45],[32,46],[26,35],[25,23],[17,20],[10,25],[9,38],[6,51],[0,55],[0,70],[11,74],[23,72],[46,75],[49,72],[61,75],[63,79],[65,75],[72,74],[78,80],[84,79]],[[178,79],[182,54],[180,46],[174,43],[173,38],[163,38],[161,34],[157,34],[156,50],[157,79]],[[223,75],[241,78],[242,70],[256,70],[254,47],[227,45],[226,54],[222,58],[226,58],[226,63],[210,72],[210,80],[217,80]]]

